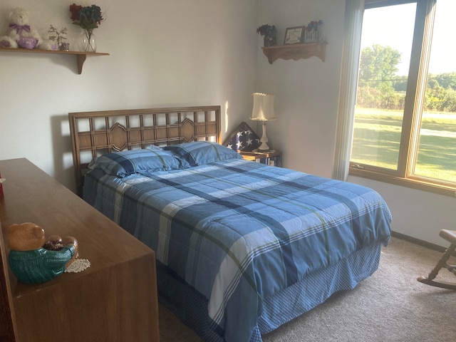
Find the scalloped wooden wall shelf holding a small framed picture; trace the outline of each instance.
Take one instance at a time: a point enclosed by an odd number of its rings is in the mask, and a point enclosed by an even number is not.
[[[264,56],[268,58],[269,64],[272,64],[276,59],[282,58],[285,60],[306,59],[316,56],[325,61],[326,58],[326,43],[302,43],[293,45],[268,46],[264,47]]]

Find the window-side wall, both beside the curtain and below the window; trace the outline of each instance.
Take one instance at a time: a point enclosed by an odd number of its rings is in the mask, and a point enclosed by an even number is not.
[[[316,57],[272,65],[258,42],[257,90],[276,93],[276,118],[268,123],[270,146],[284,153],[284,166],[331,177],[341,73],[343,0],[260,0],[259,24],[285,29],[323,20],[326,62]],[[393,214],[393,230],[440,246],[440,229],[455,229],[456,198],[359,177],[348,181],[377,190]]]

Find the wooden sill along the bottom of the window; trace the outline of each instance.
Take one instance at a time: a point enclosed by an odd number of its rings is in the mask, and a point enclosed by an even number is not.
[[[393,175],[385,175],[384,173],[375,172],[373,170],[360,170],[358,168],[350,167],[349,175],[356,177],[368,178],[370,180],[377,180],[379,182],[390,183],[393,185],[400,185],[401,187],[410,187],[416,190],[423,190],[433,192],[439,195],[456,197],[456,187],[452,185],[437,184],[435,182],[428,182],[423,179],[416,178],[403,178]]]

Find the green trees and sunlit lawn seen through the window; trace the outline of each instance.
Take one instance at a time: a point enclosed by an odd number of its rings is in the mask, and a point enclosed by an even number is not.
[[[352,162],[397,168],[407,87],[399,62],[390,46],[361,51]],[[456,72],[427,76],[415,175],[456,182]]]

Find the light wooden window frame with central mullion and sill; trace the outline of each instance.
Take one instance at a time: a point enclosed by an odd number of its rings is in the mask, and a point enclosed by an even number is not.
[[[364,9],[410,3],[416,3],[416,15],[398,155],[398,168],[397,170],[389,170],[383,167],[350,161],[348,174],[456,197],[456,185],[453,182],[413,175],[413,167],[416,160],[415,151],[418,150],[420,123],[423,114],[418,99],[420,95],[424,94],[427,84],[432,26],[435,19],[435,5],[437,4],[437,0],[366,0]],[[417,114],[415,115],[415,113]]]

